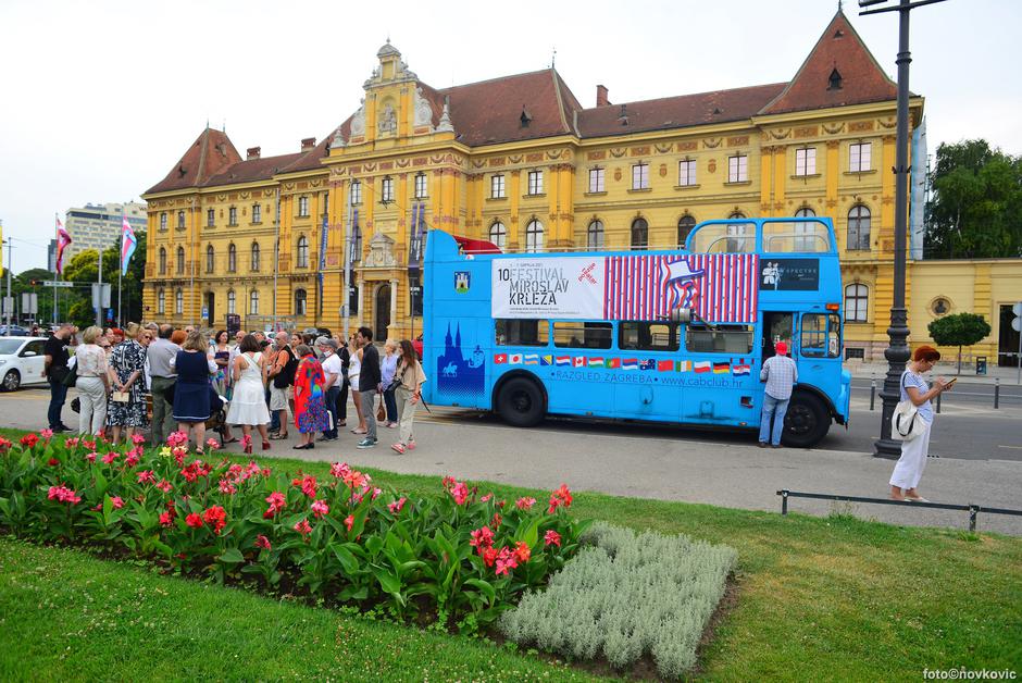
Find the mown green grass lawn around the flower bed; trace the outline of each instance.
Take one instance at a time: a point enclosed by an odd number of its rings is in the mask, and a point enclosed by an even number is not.
[[[327,469],[260,460],[316,475]],[[438,477],[367,471],[413,495],[439,486]],[[548,495],[479,487],[509,498]],[[1022,673],[1020,538],[574,493],[579,517],[738,550],[737,605],[702,653],[707,678],[919,680],[926,668],[960,667]],[[0,633],[2,680],[588,678],[486,643],[11,539],[0,542]]]

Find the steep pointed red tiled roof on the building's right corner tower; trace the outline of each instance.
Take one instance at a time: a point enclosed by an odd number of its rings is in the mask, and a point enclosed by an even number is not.
[[[842,86],[830,89],[834,70],[840,75]],[[881,69],[845,13],[838,10],[792,83],[760,113],[864,104],[897,97],[897,85]]]

